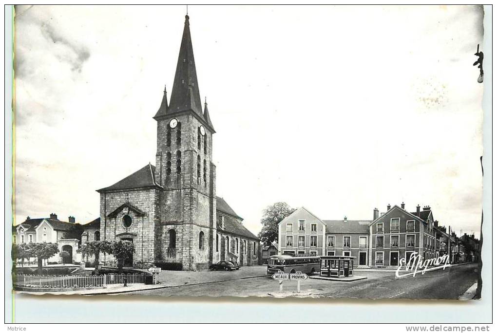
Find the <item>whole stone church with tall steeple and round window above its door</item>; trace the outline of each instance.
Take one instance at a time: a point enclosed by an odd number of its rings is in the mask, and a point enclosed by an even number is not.
[[[207,103],[200,99],[189,17],[183,36],[170,100],[166,90],[157,121],[157,154],[151,163],[100,194],[101,240],[135,244],[125,266],[172,264],[182,270],[208,268],[233,260],[240,266],[259,264],[257,236],[216,195],[213,135]],[[106,255],[104,265],[115,264]]]

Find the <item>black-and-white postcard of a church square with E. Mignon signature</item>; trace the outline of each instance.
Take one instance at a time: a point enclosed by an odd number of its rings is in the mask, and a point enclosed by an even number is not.
[[[484,298],[483,19],[15,6],[12,289]]]

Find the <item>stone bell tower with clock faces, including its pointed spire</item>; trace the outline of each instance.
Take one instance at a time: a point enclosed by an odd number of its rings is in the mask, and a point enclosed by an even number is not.
[[[183,270],[207,268],[216,238],[216,167],[212,163],[216,132],[207,103],[202,111],[188,15],[170,103],[165,90],[154,119],[155,179],[164,188],[157,207],[156,260],[181,263]]]

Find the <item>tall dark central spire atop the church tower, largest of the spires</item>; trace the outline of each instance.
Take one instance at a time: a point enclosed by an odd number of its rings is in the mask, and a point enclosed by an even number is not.
[[[189,17],[186,15],[168,113],[192,110],[202,116],[201,105],[195,60],[193,59],[190,23]]]

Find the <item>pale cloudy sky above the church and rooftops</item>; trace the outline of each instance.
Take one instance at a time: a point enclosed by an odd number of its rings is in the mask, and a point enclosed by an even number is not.
[[[80,223],[155,163],[185,6],[17,6],[15,224]],[[479,6],[189,6],[217,195],[257,233],[278,201],[322,219],[429,205],[480,234]]]

